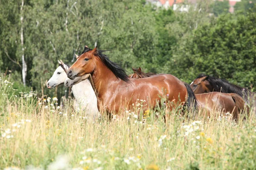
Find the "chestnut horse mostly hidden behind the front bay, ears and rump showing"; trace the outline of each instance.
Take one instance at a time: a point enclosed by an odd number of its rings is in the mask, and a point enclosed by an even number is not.
[[[130,77],[136,78],[145,78],[157,75],[155,73],[144,73],[141,68],[138,69],[132,68],[134,74],[131,74]],[[238,115],[241,111],[244,110],[244,100],[238,94],[226,94],[220,92],[210,92],[203,94],[195,94],[196,99],[198,100],[198,107],[203,108],[207,112],[207,115],[212,111],[221,110],[225,113],[233,113],[233,118],[238,119]]]

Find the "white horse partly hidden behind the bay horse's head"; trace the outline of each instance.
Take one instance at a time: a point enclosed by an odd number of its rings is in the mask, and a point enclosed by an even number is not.
[[[67,78],[66,71],[70,67],[63,62],[58,61],[60,66],[54,71],[52,77],[47,82],[47,88],[52,89],[56,85],[60,85],[65,82]],[[97,97],[93,91],[93,87],[89,79],[84,76],[83,81],[72,86],[72,92],[75,98],[74,108],[76,111],[84,111],[89,118],[98,118],[100,116],[97,107]],[[88,76],[87,76],[88,78]]]

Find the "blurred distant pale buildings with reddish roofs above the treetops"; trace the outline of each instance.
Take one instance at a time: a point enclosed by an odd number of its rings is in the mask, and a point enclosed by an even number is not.
[[[223,0],[219,0],[223,1]],[[234,6],[236,5],[237,2],[240,2],[241,0],[229,0],[230,8],[229,11],[230,13],[234,12]],[[174,11],[179,10],[179,11],[188,11],[188,5],[183,4],[182,6],[178,5],[179,3],[183,3],[184,0],[148,0],[148,2],[151,2],[155,4],[156,6],[160,7],[163,6],[164,8],[169,8],[172,7]],[[187,0],[188,3],[196,3],[197,0]]]

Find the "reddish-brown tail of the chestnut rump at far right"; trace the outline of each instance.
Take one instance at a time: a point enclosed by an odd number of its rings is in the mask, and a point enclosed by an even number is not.
[[[238,119],[239,114],[242,113],[244,109],[246,109],[246,113],[249,113],[249,107],[247,105],[246,107],[244,107],[245,106],[244,99],[239,94],[230,93],[230,96],[232,97],[232,99],[236,104],[236,108],[233,113],[233,119]]]

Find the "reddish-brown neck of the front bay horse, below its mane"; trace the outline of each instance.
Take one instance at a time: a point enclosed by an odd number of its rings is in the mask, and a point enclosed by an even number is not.
[[[92,78],[99,97],[102,92],[107,91],[113,84],[124,82],[123,80],[116,78],[115,74],[113,74],[113,72],[104,65],[99,58],[96,58],[96,68]]]

